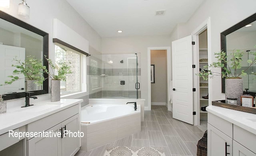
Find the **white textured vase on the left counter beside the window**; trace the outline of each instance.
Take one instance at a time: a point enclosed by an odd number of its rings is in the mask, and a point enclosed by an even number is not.
[[[60,101],[60,80],[51,80],[51,102]]]

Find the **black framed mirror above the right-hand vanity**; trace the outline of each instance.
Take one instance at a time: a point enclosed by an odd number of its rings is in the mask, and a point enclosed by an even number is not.
[[[248,24],[252,24],[252,26],[246,27]],[[226,52],[227,55],[234,49],[245,51],[243,56],[245,63],[243,63],[242,69],[246,69],[247,59],[250,58],[248,52],[256,50],[254,48],[254,45],[256,45],[256,13],[220,33],[220,42],[221,49]],[[255,70],[256,67],[252,67],[252,71]],[[224,71],[224,69],[222,69],[222,71]],[[251,72],[250,69],[249,72]],[[255,82],[252,81],[253,78],[254,77],[250,74],[248,74],[246,78],[243,78],[245,84],[244,88],[256,92],[256,80],[254,80]],[[253,87],[254,85],[255,87]],[[249,86],[252,89],[250,89]],[[222,93],[225,93],[225,78],[222,78]]]

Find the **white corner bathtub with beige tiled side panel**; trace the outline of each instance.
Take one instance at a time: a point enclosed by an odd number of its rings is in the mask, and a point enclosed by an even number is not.
[[[89,104],[81,108],[80,150],[88,151],[141,130],[141,111],[137,105]]]

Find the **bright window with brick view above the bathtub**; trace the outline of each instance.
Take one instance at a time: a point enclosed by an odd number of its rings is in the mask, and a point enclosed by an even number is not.
[[[66,75],[66,81],[60,82],[60,93],[68,94],[73,92],[86,91],[82,89],[82,64],[86,59],[83,59],[83,54],[61,45],[55,45],[55,66],[56,73],[58,67],[60,67],[62,62],[70,63],[70,69],[72,73]],[[86,74],[84,74],[86,75]],[[86,78],[84,78],[86,79]]]

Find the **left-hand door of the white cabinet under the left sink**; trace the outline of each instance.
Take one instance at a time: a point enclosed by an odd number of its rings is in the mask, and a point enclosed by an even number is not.
[[[46,132],[57,134],[60,132],[61,124],[50,128]],[[27,141],[28,156],[61,156],[60,137],[34,137]]]

